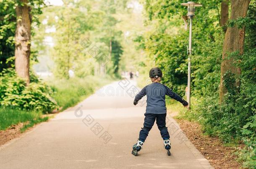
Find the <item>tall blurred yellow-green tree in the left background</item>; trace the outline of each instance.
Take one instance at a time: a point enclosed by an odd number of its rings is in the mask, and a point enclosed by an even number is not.
[[[85,70],[89,69],[90,64],[84,63],[89,62],[89,56],[84,50],[91,45],[83,44],[89,41],[89,31],[99,22],[97,11],[91,10],[92,2],[64,0],[63,6],[48,7],[45,11],[43,19],[47,20],[47,26],[56,28],[56,32],[45,33],[43,36],[52,36],[55,40],[52,50],[55,61],[53,73],[59,78],[68,79],[69,70],[75,71],[76,76],[80,77],[90,72]]]

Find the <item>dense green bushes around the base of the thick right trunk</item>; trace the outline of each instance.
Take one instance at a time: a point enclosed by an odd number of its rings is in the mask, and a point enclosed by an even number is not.
[[[221,48],[219,50],[221,51]],[[218,55],[212,53],[209,56],[217,58]],[[215,61],[212,59],[201,61],[206,62],[198,69],[204,78],[200,80],[199,76],[194,79],[195,94],[200,102],[192,105],[192,110],[186,112],[185,117],[199,121],[207,134],[219,136],[226,143],[243,140],[246,147],[239,156],[245,161],[246,167],[252,168],[255,166],[255,122],[251,120],[256,114],[256,48],[248,49],[243,55],[239,55],[238,52],[230,55],[237,58],[233,64],[241,69],[241,74],[225,73],[225,102],[219,106],[219,64],[214,65]],[[212,66],[207,62],[212,63]],[[243,138],[245,134],[248,136]]]

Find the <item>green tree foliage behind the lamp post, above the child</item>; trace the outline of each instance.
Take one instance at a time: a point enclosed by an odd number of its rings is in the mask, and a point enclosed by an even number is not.
[[[146,14],[149,15],[147,23],[152,22],[155,29],[144,35],[144,38],[139,36],[136,41],[139,41],[140,46],[148,52],[149,58],[155,60],[156,66],[163,69],[163,83],[183,96],[187,84],[188,31],[184,30],[184,23],[181,19],[181,16],[186,15],[186,10],[180,3],[183,1],[158,0],[152,2],[146,0]],[[216,60],[214,57],[209,57],[208,51],[212,51],[212,47],[217,44],[215,41],[218,38],[214,36],[219,36],[219,28],[216,24],[218,14],[215,8],[216,3],[219,2],[213,0],[207,1],[207,3],[202,1],[201,3],[205,4],[204,8],[197,8],[196,17],[193,19],[196,26],[193,27],[193,37],[195,38],[193,38],[192,51],[192,83],[197,83],[194,79],[198,74],[201,79],[203,78],[203,73],[198,68],[199,62],[204,61],[206,63],[208,58],[213,62]],[[212,51],[212,53],[215,54],[216,52]],[[212,63],[209,63],[208,66],[210,64]]]

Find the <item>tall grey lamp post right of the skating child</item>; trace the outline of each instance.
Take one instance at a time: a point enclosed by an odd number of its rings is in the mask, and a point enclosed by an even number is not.
[[[188,109],[190,108],[190,83],[191,83],[191,49],[192,49],[192,19],[195,15],[195,7],[202,6],[199,3],[194,3],[189,1],[188,3],[182,3],[181,5],[188,7],[188,17],[189,17],[189,43],[188,43],[188,90],[187,90],[187,101]]]

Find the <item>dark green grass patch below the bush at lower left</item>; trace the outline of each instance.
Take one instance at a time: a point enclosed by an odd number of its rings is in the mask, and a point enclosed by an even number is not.
[[[0,130],[5,130],[9,126],[27,122],[22,130],[34,126],[42,121],[47,121],[48,117],[42,118],[42,113],[38,111],[22,111],[13,108],[0,108]]]

